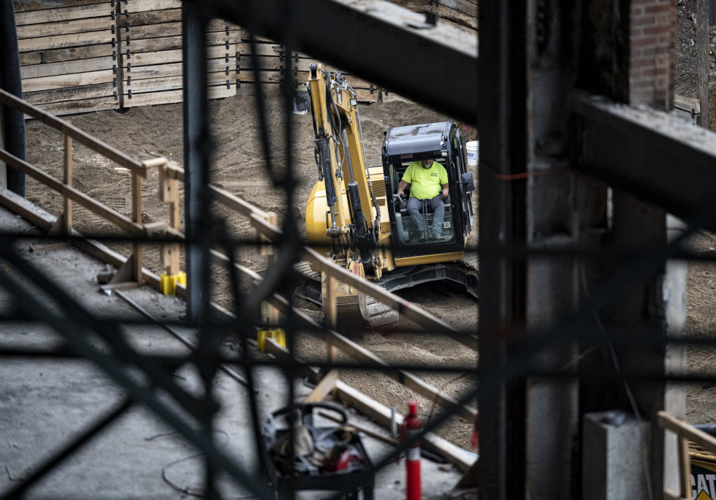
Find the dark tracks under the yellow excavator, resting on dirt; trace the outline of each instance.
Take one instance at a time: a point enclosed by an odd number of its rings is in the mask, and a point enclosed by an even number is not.
[[[304,282],[296,290],[296,294],[302,299],[322,306],[321,273],[311,269],[306,261],[295,264],[294,269],[304,277]],[[452,282],[465,284],[467,292],[478,298],[478,270],[478,255],[470,254],[465,255],[463,260],[457,262],[398,268],[384,274],[382,279],[374,279],[371,282],[389,292],[395,292],[396,290],[415,287],[415,285],[421,283],[448,279]],[[387,307],[372,297],[366,297],[366,303],[369,316],[367,322],[372,327],[395,323],[399,319],[398,312],[395,309]],[[353,312],[351,311],[351,313]],[[342,314],[342,311],[339,310],[339,314]]]

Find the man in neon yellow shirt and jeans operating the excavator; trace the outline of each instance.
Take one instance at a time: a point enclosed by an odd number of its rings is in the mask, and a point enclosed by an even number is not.
[[[445,218],[445,198],[448,198],[448,171],[434,160],[414,161],[408,165],[398,185],[398,196],[410,184],[410,198],[407,201],[407,213],[415,217],[420,234],[425,234],[425,219],[420,216],[423,205],[432,208],[432,239],[442,234],[442,221]]]

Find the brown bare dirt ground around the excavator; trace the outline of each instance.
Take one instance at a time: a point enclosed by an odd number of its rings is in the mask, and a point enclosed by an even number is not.
[[[695,22],[692,13],[696,0],[677,2],[677,80],[674,82],[678,94],[687,97],[695,95]],[[712,40],[716,29],[710,31]],[[713,56],[713,44],[711,55]],[[712,76],[716,75],[716,62],[711,63]],[[712,102],[716,95],[712,94]],[[313,130],[311,115],[292,117],[293,142],[292,160],[295,179],[294,208],[286,210],[284,192],[274,186],[269,174],[263,167],[265,155],[261,144],[261,130],[253,112],[255,97],[237,95],[224,100],[211,102],[211,123],[213,143],[216,146],[211,164],[212,181],[221,188],[235,193],[246,201],[266,211],[274,211],[283,221],[286,217],[297,221],[300,231],[304,231],[303,220],[305,203],[312,184],[316,181],[316,163],[311,143]],[[284,116],[280,102],[275,97],[266,98],[269,110],[269,132],[271,133],[271,153],[274,165],[282,175],[286,165]],[[407,102],[381,102],[360,107],[362,128],[367,160],[370,165],[380,163],[380,147],[383,131],[390,125],[410,125],[444,120],[432,110]],[[712,113],[715,115],[716,113]],[[155,156],[165,156],[183,162],[182,144],[182,107],[181,105],[163,105],[140,107],[127,112],[97,112],[86,115],[65,117],[82,130],[95,135],[100,140],[115,146],[140,160]],[[28,160],[40,166],[47,173],[62,178],[62,137],[59,133],[44,126],[37,120],[27,123]],[[76,145],[74,153],[74,186],[97,200],[115,208],[120,213],[131,215],[130,176],[100,155],[81,145]],[[142,219],[145,222],[166,220],[168,208],[158,201],[158,174],[153,172],[142,184]],[[28,179],[27,198],[54,214],[62,211],[62,198],[57,193],[47,191],[32,179]],[[476,209],[477,200],[473,198]],[[254,234],[248,221],[217,206],[216,211],[226,216],[231,231],[238,236],[253,238]],[[74,225],[84,234],[116,234],[97,216],[75,206]],[[183,211],[182,211],[183,218]],[[476,219],[475,219],[476,220]],[[183,222],[183,221],[182,221]],[[470,238],[475,242],[476,230]],[[126,245],[112,244],[113,248],[125,255],[129,254]],[[716,236],[698,234],[690,239],[689,246],[695,251],[710,251],[716,248]],[[145,266],[160,273],[157,251],[147,251]],[[251,248],[238,254],[242,264],[252,269],[266,267],[266,258]],[[220,270],[216,270],[216,302],[230,306],[230,294],[225,287],[225,279]],[[690,335],[707,335],[714,332],[716,288],[716,270],[704,263],[690,264],[687,282],[687,332]],[[463,330],[475,332],[478,321],[478,304],[475,299],[462,290],[450,285],[425,285],[399,292],[402,297],[420,304],[427,311]],[[297,299],[297,307],[303,309],[314,319],[322,320],[320,309],[314,304]],[[362,345],[374,351],[389,362],[430,362],[431,364],[455,363],[458,365],[476,365],[477,355],[462,345],[446,337],[426,337],[410,332],[415,325],[405,319],[388,330],[369,332]],[[702,332],[702,333],[699,333]],[[299,355],[306,359],[324,356],[321,342],[311,335],[301,337],[297,343]],[[698,370],[713,364],[715,355],[702,348],[691,348],[688,365],[690,370]],[[475,387],[473,374],[430,375],[424,378],[437,388],[459,397]],[[409,390],[377,374],[364,372],[343,372],[342,378],[359,390],[367,393],[389,406],[405,410],[405,402],[414,397]],[[716,385],[700,385],[687,390],[687,417],[692,423],[716,423],[716,408],[712,405],[716,395]],[[422,398],[420,410],[427,420],[434,412],[432,404]],[[442,436],[453,443],[469,448],[472,423],[453,418],[443,429]]]

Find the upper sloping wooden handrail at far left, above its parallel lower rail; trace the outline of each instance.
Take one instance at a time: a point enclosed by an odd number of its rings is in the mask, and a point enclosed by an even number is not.
[[[92,137],[92,135],[89,135],[83,130],[79,130],[79,128],[75,127],[71,123],[60,120],[58,117],[41,110],[39,107],[35,107],[28,102],[15,97],[6,90],[0,89],[0,102],[14,108],[15,110],[24,112],[25,115],[29,115],[37,120],[40,120],[65,135],[69,135],[69,137],[73,138],[78,143],[86,145],[87,148],[90,148],[101,155],[105,155],[110,160],[119,163],[125,168],[129,168],[132,172],[142,176],[142,178],[147,178],[147,169],[144,165],[142,165],[142,163],[129,155],[122,153],[122,151],[103,143],[101,140]]]

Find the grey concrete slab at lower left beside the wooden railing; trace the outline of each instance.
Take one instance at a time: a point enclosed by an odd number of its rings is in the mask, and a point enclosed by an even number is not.
[[[31,251],[32,244],[48,244],[33,238],[32,226],[0,208],[0,231],[26,233],[18,251],[32,261],[84,308],[100,317],[142,319],[135,309],[116,296],[100,292],[96,276],[107,266],[75,249]],[[4,320],[14,314],[16,303],[3,287],[7,277],[19,272],[0,261],[0,347],[52,347],[63,340],[47,324]],[[39,292],[38,292],[39,293]],[[181,326],[183,301],[165,297],[153,289],[126,292],[157,319],[171,322],[175,330],[196,341],[196,332]],[[49,301],[48,301],[49,304]],[[52,306],[48,305],[50,309]],[[144,354],[182,355],[187,347],[159,327],[132,324],[125,335]],[[227,352],[236,349],[226,343]],[[256,353],[258,355],[258,353]],[[237,368],[241,373],[241,370]],[[200,390],[198,375],[185,365],[173,374],[188,390]],[[286,405],[288,381],[279,370],[261,368],[256,372],[260,421],[269,412]],[[296,381],[296,395],[304,397],[309,388]],[[216,416],[215,441],[247,470],[256,466],[251,431],[248,392],[236,380],[220,373],[214,380],[221,410]],[[82,429],[102,418],[120,403],[124,391],[87,360],[48,357],[6,357],[0,362],[0,496],[37,468]],[[351,420],[379,429],[360,415]],[[364,437],[374,462],[387,453],[389,445]],[[454,468],[422,461],[423,491],[426,499],[446,498],[460,479]],[[390,464],[376,478],[377,499],[400,499],[405,493],[405,463]],[[174,486],[171,486],[173,483]],[[223,498],[251,498],[241,486],[221,480]],[[48,499],[171,499],[200,495],[203,489],[203,461],[196,449],[149,410],[133,405],[110,426],[67,458],[27,498]],[[183,491],[179,491],[183,490]],[[319,498],[306,493],[300,498]],[[462,498],[462,497],[460,497]]]

